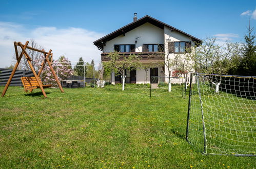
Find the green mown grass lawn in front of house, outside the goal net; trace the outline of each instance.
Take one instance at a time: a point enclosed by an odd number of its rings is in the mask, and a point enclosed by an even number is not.
[[[202,155],[186,142],[179,86],[151,98],[148,88],[121,88],[46,89],[44,98],[9,87],[0,97],[0,168],[256,166],[255,157]]]

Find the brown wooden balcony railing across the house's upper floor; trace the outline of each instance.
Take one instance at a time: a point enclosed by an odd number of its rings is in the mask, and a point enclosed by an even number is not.
[[[109,53],[102,53],[102,61],[109,61]],[[163,61],[164,52],[123,52],[119,53],[120,59],[124,60],[124,57],[128,57],[130,54],[138,55],[141,61]]]

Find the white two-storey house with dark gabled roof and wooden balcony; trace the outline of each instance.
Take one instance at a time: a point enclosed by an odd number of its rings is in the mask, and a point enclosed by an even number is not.
[[[134,13],[133,22],[94,41],[93,44],[102,51],[102,61],[108,61],[107,55],[117,51],[120,55],[138,54],[143,64],[163,61],[160,55],[174,57],[175,53],[185,53],[186,48],[201,44],[202,40],[179,29],[167,25],[148,15],[137,19]],[[150,76],[164,76],[161,67],[136,69],[127,74],[126,83],[149,83]],[[166,74],[166,73],[165,73]],[[121,83],[121,76],[111,72],[111,83]]]

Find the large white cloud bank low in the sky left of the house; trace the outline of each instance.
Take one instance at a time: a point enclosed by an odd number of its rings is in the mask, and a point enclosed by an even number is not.
[[[94,59],[95,64],[101,61],[101,51],[93,45],[93,41],[104,36],[101,33],[88,31],[82,28],[58,29],[55,27],[39,27],[29,29],[22,25],[0,22],[0,68],[11,64],[14,54],[13,41],[34,39],[38,45],[46,50],[52,49],[53,58],[61,55],[68,57],[70,61],[78,61],[83,57],[90,62]]]

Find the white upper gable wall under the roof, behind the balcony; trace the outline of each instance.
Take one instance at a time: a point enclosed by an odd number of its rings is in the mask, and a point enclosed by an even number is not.
[[[139,38],[137,38],[139,37]],[[137,43],[135,40],[137,38]],[[164,30],[152,24],[143,24],[124,35],[106,42],[104,52],[113,52],[114,45],[135,44],[135,52],[142,52],[143,44],[164,44]]]

